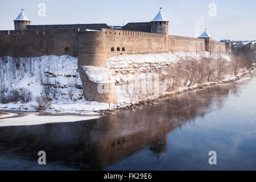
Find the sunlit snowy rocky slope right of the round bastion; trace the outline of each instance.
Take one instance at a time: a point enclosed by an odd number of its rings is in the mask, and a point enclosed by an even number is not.
[[[159,96],[183,92],[188,88],[196,88],[198,84],[191,86],[181,86],[174,92],[168,92],[170,86],[170,76],[168,68],[173,67],[179,61],[197,60],[212,57],[216,59],[218,55],[210,55],[209,52],[168,52],[168,53],[147,53],[136,55],[118,55],[109,57],[108,68],[112,73],[116,84],[118,103],[136,103],[142,100],[154,100]],[[231,61],[229,55],[221,55],[226,62]],[[161,80],[161,77],[164,78]],[[227,79],[234,78],[226,75]],[[155,82],[153,80],[159,80]],[[213,82],[212,82],[213,83]],[[207,84],[212,84],[208,82]],[[157,89],[153,85],[158,85]],[[144,90],[152,92],[142,92]],[[134,91],[133,91],[134,90]]]

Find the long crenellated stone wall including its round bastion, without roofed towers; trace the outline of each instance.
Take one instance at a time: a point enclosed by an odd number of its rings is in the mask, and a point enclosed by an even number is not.
[[[212,52],[225,52],[229,46],[212,41],[208,44],[205,39],[109,28],[102,28],[101,31],[80,30],[80,28],[0,31],[0,56],[71,55],[78,57],[78,68],[86,100],[106,103],[117,103],[115,83],[103,83],[104,88],[108,88],[106,90],[109,92],[98,93],[97,89],[102,86],[102,83],[90,80],[84,66],[106,68],[108,57],[121,54],[204,52],[207,51],[207,47]]]

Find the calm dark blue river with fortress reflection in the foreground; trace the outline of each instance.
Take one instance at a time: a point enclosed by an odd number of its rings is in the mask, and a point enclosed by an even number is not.
[[[256,170],[256,75],[247,77],[99,119],[0,127],[0,169]]]

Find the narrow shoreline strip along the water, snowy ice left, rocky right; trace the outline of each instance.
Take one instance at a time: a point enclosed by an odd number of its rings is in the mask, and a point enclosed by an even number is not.
[[[78,122],[78,121],[87,121],[91,119],[97,119],[100,118],[100,115],[111,115],[115,114],[120,111],[124,110],[134,110],[135,109],[142,109],[145,106],[155,106],[157,101],[160,101],[162,99],[166,99],[168,97],[174,97],[178,94],[183,94],[187,92],[192,92],[193,90],[199,90],[199,89],[205,89],[210,86],[217,86],[217,85],[223,85],[223,84],[230,84],[232,82],[236,82],[239,80],[247,80],[248,77],[245,77],[246,75],[249,75],[250,73],[255,72],[255,69],[250,69],[249,71],[246,71],[242,73],[239,76],[236,76],[234,78],[229,78],[226,80],[223,80],[221,82],[207,82],[205,84],[198,84],[197,86],[193,86],[191,88],[179,90],[177,92],[173,92],[171,94],[166,94],[164,96],[159,97],[155,100],[148,100],[148,101],[141,101],[136,104],[130,104],[125,106],[116,106],[112,109],[108,110],[101,110],[98,112],[87,112],[87,114],[61,114],[61,113],[47,113],[47,112],[30,112],[30,113],[9,113],[6,111],[3,111],[5,114],[0,116],[0,127],[1,126],[30,126],[30,125],[43,125],[47,123],[65,123],[65,122]]]

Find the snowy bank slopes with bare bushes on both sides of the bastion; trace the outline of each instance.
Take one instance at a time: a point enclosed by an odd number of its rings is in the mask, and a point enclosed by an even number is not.
[[[10,75],[13,72],[5,72],[2,77],[0,110],[35,112],[38,97],[45,96],[51,100],[51,106],[44,112],[51,114],[104,115],[204,86],[232,82],[247,73],[248,68],[238,57],[225,53],[168,52],[110,57],[108,69],[118,96],[118,104],[114,105],[85,101],[76,57],[20,58],[21,65],[31,66],[31,72],[24,72],[25,67],[14,69],[11,57],[5,59],[9,62],[2,69],[13,70],[15,77]],[[67,65],[69,69],[63,69]]]

